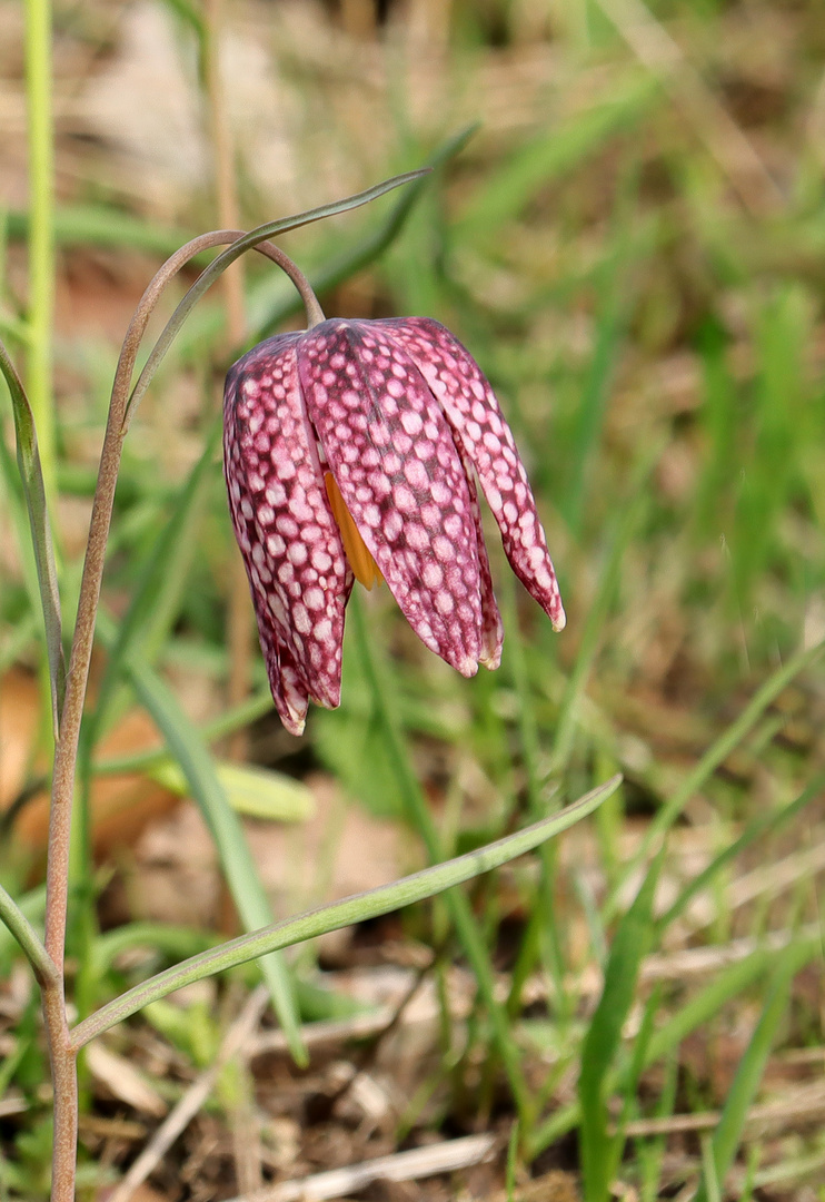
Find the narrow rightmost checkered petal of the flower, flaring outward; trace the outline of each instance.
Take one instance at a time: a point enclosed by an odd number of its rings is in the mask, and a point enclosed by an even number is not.
[[[382,326],[388,339],[406,347],[476,466],[513,571],[554,630],[562,630],[564,609],[527,474],[480,368],[458,339],[430,317],[401,317]]]

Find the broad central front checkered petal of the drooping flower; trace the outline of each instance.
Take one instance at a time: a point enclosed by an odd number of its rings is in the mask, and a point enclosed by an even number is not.
[[[483,573],[468,480],[441,406],[385,322],[316,326],[298,370],[341,496],[393,596],[431,650],[473,676]]]

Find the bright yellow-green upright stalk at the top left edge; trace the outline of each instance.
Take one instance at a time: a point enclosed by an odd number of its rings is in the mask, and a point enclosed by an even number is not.
[[[56,487],[52,401],[54,320],[54,123],[52,4],[26,0],[25,82],[29,130],[29,332],[26,388],[37,428],[47,498]]]

